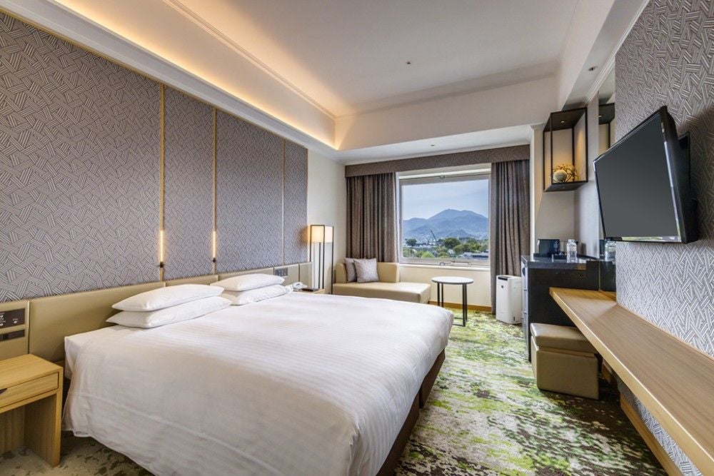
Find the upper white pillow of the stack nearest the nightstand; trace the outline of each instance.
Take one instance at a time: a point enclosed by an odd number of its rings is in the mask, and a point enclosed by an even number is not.
[[[206,284],[180,284],[153,289],[119,301],[111,306],[119,310],[147,311],[170,308],[172,305],[189,303],[221,294],[223,290]]]

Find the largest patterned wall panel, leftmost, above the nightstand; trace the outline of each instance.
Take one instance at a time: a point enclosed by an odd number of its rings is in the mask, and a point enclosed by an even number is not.
[[[0,14],[0,300],[159,278],[159,83]]]

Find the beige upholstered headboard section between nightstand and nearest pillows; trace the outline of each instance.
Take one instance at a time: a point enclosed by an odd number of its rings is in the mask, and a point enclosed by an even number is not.
[[[64,359],[64,338],[106,327],[117,311],[111,305],[129,296],[163,288],[163,282],[48,296],[30,300],[29,353],[57,362]]]

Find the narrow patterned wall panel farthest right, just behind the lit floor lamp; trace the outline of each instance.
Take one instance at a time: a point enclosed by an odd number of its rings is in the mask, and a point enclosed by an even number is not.
[[[284,168],[283,260],[286,264],[302,263],[308,260],[305,226],[308,214],[308,150],[296,143],[285,141]]]

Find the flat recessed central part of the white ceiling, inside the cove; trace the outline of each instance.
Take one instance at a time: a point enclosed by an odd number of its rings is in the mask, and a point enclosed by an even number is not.
[[[577,4],[164,1],[249,52],[333,116],[553,74]]]

